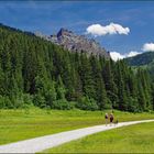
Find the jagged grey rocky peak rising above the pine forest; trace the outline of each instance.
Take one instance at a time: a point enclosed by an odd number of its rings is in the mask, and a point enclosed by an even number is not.
[[[56,35],[51,35],[48,37],[45,36],[44,38],[57,45],[62,45],[64,48],[72,52],[85,52],[88,55],[94,54],[110,58],[109,52],[106,52],[106,50],[102,48],[95,40],[88,40],[84,35],[77,35],[65,29],[61,29]]]

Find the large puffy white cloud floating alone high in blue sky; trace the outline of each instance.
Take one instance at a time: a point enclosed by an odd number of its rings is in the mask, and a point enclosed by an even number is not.
[[[92,34],[95,36],[101,36],[107,34],[124,34],[128,35],[130,33],[129,28],[123,28],[117,23],[110,23],[109,25],[100,25],[100,24],[91,24],[87,28],[87,33]]]

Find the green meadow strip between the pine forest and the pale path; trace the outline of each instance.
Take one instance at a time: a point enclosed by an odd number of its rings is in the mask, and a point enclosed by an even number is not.
[[[105,111],[0,110],[0,144],[102,124]],[[114,111],[119,121],[154,119],[153,113]]]

